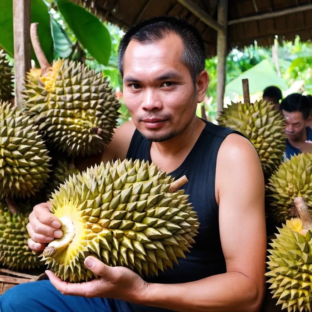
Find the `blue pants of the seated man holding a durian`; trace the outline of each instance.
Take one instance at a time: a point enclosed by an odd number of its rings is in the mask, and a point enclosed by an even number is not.
[[[62,295],[49,280],[20,284],[0,296],[0,312],[48,311],[135,312],[129,303],[120,300]]]

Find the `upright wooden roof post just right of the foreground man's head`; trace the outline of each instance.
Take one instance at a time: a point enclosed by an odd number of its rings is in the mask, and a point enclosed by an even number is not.
[[[225,91],[226,58],[227,58],[227,11],[228,0],[220,0],[218,4],[218,23],[224,27],[224,31],[218,30],[217,55],[218,55],[218,84],[217,84],[217,118],[223,112]]]

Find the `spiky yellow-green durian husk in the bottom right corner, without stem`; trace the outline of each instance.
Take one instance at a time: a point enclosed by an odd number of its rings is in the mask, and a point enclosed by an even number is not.
[[[282,309],[311,311],[312,302],[312,232],[302,235],[300,218],[292,218],[278,228],[279,234],[272,240],[267,283]],[[302,233],[302,231],[301,231]]]

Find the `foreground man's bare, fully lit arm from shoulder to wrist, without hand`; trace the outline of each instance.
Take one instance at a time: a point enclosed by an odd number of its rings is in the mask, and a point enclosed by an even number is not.
[[[248,140],[230,134],[219,149],[216,170],[227,273],[184,284],[149,284],[141,304],[179,312],[260,309],[265,289],[266,226],[259,157]]]

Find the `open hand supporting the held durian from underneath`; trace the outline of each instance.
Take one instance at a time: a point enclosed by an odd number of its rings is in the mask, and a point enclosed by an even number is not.
[[[114,298],[133,303],[139,303],[143,299],[148,283],[130,269],[107,266],[92,256],[85,259],[85,266],[98,278],[84,283],[67,283],[51,271],[46,271],[46,275],[63,295]]]

